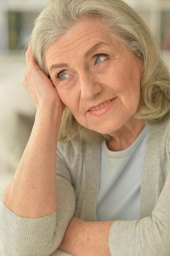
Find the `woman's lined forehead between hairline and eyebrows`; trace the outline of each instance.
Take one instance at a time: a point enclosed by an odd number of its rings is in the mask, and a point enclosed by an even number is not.
[[[55,56],[62,57],[74,54],[85,54],[88,50],[98,43],[98,47],[112,47],[117,49],[120,46],[120,43],[116,38],[102,27],[85,26],[82,30],[79,30],[78,27],[74,27],[66,34],[57,38],[57,40],[49,47],[46,52],[46,61],[49,61],[49,58]],[[100,43],[100,44],[99,44]],[[103,43],[103,44],[102,44]],[[94,50],[97,47],[94,47]]]

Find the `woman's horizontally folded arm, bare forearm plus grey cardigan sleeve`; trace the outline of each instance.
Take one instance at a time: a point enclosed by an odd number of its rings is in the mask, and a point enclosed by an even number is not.
[[[58,248],[76,256],[168,256],[169,195],[170,172],[151,217],[103,222],[72,218]]]

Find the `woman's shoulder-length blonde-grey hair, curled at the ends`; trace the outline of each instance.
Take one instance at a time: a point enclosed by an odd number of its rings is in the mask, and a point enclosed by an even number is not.
[[[139,15],[122,0],[51,0],[34,22],[30,42],[40,69],[49,76],[45,54],[50,45],[83,18],[93,16],[106,24],[117,40],[144,62],[139,106],[133,117],[155,125],[170,117],[170,73],[157,39]],[[89,144],[109,141],[103,135],[80,125],[66,107],[58,140],[78,140]]]

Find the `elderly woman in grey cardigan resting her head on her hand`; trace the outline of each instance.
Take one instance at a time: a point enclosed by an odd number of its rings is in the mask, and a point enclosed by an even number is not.
[[[52,0],[23,85],[37,112],[0,203],[5,255],[168,256],[170,74],[122,0]]]

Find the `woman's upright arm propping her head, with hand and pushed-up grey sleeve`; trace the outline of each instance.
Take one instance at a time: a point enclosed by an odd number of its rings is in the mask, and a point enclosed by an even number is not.
[[[18,168],[0,201],[0,247],[4,255],[49,256],[60,245],[74,214],[75,191],[56,150],[64,104],[30,51],[26,58],[24,87],[37,113]]]

